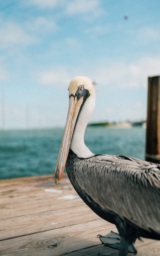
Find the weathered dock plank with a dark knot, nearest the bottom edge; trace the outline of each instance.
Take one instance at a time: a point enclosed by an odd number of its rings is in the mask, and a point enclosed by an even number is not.
[[[110,225],[109,228],[112,228],[112,226],[113,225]],[[101,244],[100,240],[97,238],[97,232],[99,234],[100,231],[105,232],[106,228],[104,222],[98,220],[86,222],[85,225],[73,224],[65,228],[32,234],[27,237],[27,240],[26,236],[22,236],[20,238],[10,239],[9,243],[5,241],[0,246],[0,255],[17,256],[19,255],[18,248],[21,250],[23,256],[35,254],[43,256],[52,254],[54,256],[65,255],[73,251]],[[9,248],[6,243],[9,244]],[[53,246],[54,244],[57,246]],[[17,254],[13,254],[14,251]]]

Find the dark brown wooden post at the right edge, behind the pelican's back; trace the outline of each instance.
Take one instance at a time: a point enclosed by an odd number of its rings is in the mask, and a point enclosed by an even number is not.
[[[160,76],[148,78],[146,160],[160,164]]]

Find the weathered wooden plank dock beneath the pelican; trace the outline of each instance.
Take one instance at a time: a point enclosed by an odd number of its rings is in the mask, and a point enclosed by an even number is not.
[[[97,237],[116,231],[76,194],[67,176],[0,181],[1,256],[117,256]],[[160,241],[137,240],[138,256],[159,256]],[[134,254],[128,254],[133,256]]]

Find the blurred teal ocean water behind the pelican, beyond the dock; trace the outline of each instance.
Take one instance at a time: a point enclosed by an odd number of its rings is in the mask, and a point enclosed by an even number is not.
[[[54,174],[63,129],[0,132],[0,179]],[[146,130],[87,127],[85,143],[96,154],[120,154],[144,160]]]

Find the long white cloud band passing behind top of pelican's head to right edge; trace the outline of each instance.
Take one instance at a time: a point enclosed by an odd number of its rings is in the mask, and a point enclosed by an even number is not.
[[[99,62],[98,62],[99,63]],[[86,66],[68,68],[48,68],[36,74],[36,81],[48,86],[66,86],[74,76],[88,76],[102,86],[116,88],[146,88],[148,76],[160,74],[160,56],[146,57],[134,62],[103,61],[103,65],[92,66],[88,70]],[[87,71],[86,71],[87,70]]]

